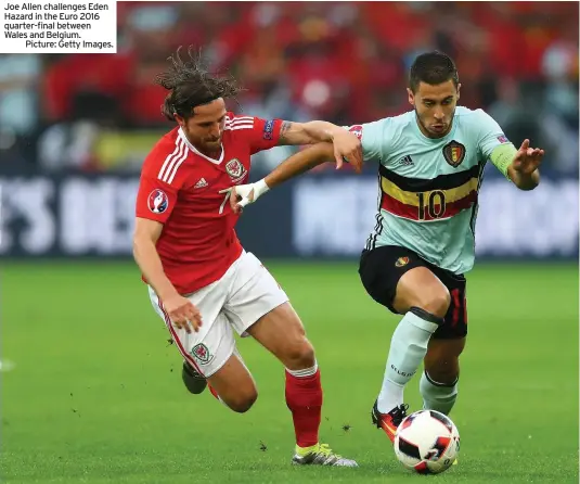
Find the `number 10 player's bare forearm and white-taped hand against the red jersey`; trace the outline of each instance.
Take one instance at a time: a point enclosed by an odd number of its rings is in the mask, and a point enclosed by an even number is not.
[[[334,161],[333,145],[331,143],[319,143],[293,154],[278,165],[266,178],[255,183],[232,187],[231,189],[222,190],[220,193],[230,192],[232,209],[239,213],[247,204],[256,202],[271,188],[332,161]]]

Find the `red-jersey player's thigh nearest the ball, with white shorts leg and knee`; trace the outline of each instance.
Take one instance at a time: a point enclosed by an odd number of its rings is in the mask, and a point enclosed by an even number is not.
[[[312,361],[313,349],[286,293],[256,256],[245,254],[224,311],[242,335],[250,334],[287,368]]]

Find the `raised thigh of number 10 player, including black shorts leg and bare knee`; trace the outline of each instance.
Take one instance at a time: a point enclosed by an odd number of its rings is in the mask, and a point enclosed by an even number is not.
[[[385,245],[361,255],[359,273],[371,297],[396,314],[411,307],[443,317],[450,302],[429,265],[405,247]]]

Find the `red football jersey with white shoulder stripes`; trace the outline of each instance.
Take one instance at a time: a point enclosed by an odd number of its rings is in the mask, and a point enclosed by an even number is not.
[[[281,125],[228,113],[219,160],[199,153],[179,127],[145,158],[137,216],[164,224],[157,252],[180,294],[217,281],[240,257],[239,215],[219,191],[248,181],[250,156],[278,143]]]

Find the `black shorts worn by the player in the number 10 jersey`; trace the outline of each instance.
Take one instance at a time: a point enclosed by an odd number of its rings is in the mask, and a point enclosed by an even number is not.
[[[434,333],[437,339],[463,337],[467,334],[466,280],[421,258],[415,252],[397,245],[384,245],[372,251],[362,251],[359,275],[369,295],[377,303],[397,314],[392,301],[399,279],[408,270],[426,267],[447,286],[451,304],[444,322]]]

